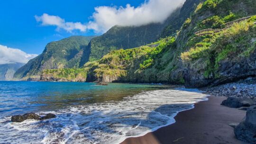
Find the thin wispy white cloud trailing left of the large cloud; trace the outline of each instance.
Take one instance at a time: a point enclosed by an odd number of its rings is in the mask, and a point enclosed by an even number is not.
[[[56,26],[57,30],[64,29],[68,32],[73,30],[80,30],[82,32],[86,31],[87,27],[81,22],[65,22],[63,18],[58,16],[50,16],[44,13],[42,16],[35,16],[37,22],[41,22],[42,26]]]

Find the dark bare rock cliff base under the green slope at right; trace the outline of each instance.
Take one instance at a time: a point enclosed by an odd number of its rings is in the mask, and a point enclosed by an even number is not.
[[[194,68],[194,66],[183,68],[183,78],[186,82],[186,87],[201,88],[246,79],[251,76],[256,76],[256,51],[249,57],[220,61],[219,69],[216,72],[219,73],[218,77],[214,75],[205,77],[204,67]]]

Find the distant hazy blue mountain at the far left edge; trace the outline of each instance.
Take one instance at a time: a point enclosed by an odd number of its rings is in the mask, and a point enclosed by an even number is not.
[[[11,81],[14,73],[25,63],[0,64],[0,81]]]

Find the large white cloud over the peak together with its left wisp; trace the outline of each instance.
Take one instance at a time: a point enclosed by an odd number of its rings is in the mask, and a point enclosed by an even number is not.
[[[42,16],[35,16],[42,26],[56,26],[57,30],[64,29],[68,32],[80,30],[85,32],[92,29],[102,33],[115,25],[119,26],[141,26],[149,23],[162,23],[170,14],[185,0],[145,0],[138,7],[129,4],[126,7],[96,7],[92,14],[91,21],[87,24],[81,22],[65,22],[58,16],[50,16],[44,13]]]

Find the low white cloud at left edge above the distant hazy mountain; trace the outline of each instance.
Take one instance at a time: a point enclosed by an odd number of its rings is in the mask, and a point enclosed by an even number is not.
[[[27,63],[30,59],[35,58],[37,54],[27,54],[20,49],[9,48],[0,45],[0,64],[8,63]]]

